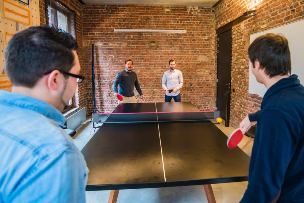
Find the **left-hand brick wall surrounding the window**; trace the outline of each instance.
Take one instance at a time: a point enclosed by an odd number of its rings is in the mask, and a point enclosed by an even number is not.
[[[83,53],[83,35],[82,35],[82,5],[75,0],[61,0],[58,1],[65,7],[71,9],[76,13],[75,20],[76,20],[76,40],[78,43],[78,57],[79,62],[81,65],[80,74],[85,74],[84,67],[84,53]],[[40,8],[40,24],[46,25],[46,14],[45,14],[45,2],[44,0],[39,0],[39,8]],[[90,81],[88,81],[90,82]],[[85,83],[78,84],[78,88],[76,90],[76,100],[74,100],[74,104],[80,106],[80,108],[87,106],[87,95],[85,93]],[[88,111],[88,110],[87,110]]]

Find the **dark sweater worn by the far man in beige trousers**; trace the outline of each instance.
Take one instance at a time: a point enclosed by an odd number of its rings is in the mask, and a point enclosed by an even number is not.
[[[117,85],[118,85],[118,91],[117,91]],[[114,93],[118,92],[119,95],[123,95],[126,97],[134,96],[134,86],[138,91],[138,94],[143,95],[140,86],[138,84],[136,73],[134,71],[127,72],[125,69],[123,71],[120,71],[116,75],[116,79],[113,83]]]

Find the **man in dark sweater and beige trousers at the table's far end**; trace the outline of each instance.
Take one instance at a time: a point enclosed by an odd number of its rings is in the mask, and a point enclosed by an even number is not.
[[[137,103],[134,95],[134,86],[140,97],[143,99],[143,93],[140,89],[137,75],[132,71],[132,68],[133,61],[131,59],[126,59],[125,69],[116,75],[116,79],[113,83],[114,96],[117,98],[117,95],[119,94],[123,97],[123,101],[120,101],[120,103]]]

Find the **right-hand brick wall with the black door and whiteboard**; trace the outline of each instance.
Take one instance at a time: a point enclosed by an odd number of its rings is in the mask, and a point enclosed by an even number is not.
[[[254,7],[254,1],[224,0],[215,8],[216,29]],[[232,28],[230,125],[237,127],[248,112],[259,110],[262,99],[248,93],[250,34],[304,18],[303,0],[257,0],[257,15]]]

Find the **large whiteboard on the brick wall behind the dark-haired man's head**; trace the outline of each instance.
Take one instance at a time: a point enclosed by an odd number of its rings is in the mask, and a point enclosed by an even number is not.
[[[267,33],[281,33],[287,38],[291,55],[291,74],[298,75],[301,84],[304,84],[304,19],[268,29],[263,32],[254,33],[250,35],[250,44],[258,36]],[[251,66],[252,63],[249,62],[249,93],[263,97],[267,89],[264,84],[257,82],[251,71]]]

